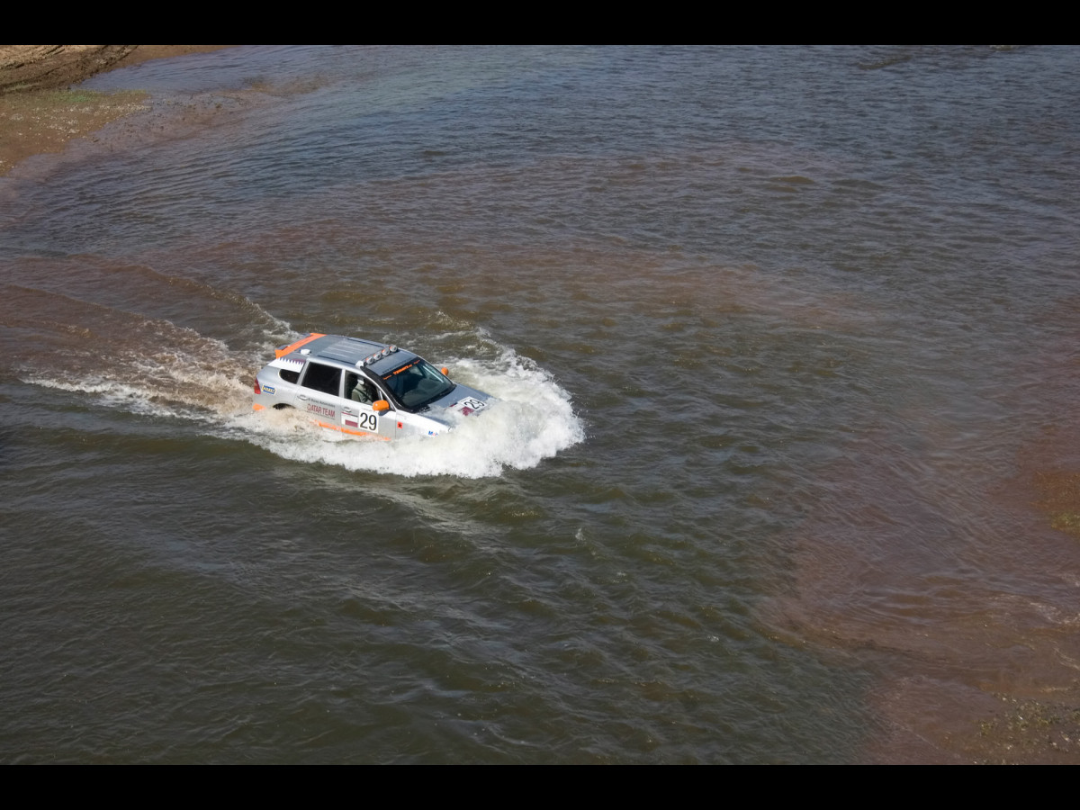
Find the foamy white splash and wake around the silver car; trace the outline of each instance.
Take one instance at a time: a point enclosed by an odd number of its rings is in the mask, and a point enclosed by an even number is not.
[[[201,423],[213,435],[251,442],[281,458],[403,476],[497,476],[529,469],[584,438],[569,394],[545,370],[503,349],[490,360],[450,361],[453,378],[496,397],[436,437],[355,438],[315,427],[292,409],[251,410],[251,359],[202,339],[168,352],[99,360],[93,370],[27,372],[27,382],[90,394],[96,402],[152,417]],[[57,376],[58,375],[58,376]]]

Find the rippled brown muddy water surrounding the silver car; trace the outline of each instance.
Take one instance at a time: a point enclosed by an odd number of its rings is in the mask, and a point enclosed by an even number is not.
[[[1078,65],[95,78],[0,180],[0,760],[1080,761]],[[309,330],[500,402],[252,413]]]

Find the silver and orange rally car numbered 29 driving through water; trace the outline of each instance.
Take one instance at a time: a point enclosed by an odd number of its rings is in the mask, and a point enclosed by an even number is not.
[[[491,400],[396,346],[311,333],[279,347],[255,376],[253,407],[297,408],[323,428],[389,441],[446,433],[453,414]]]

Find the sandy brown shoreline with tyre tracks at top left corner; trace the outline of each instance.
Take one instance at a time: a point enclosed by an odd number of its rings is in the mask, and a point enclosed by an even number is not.
[[[0,45],[0,176],[30,156],[147,109],[141,91],[76,85],[107,70],[230,45]]]

